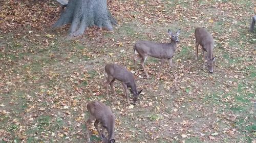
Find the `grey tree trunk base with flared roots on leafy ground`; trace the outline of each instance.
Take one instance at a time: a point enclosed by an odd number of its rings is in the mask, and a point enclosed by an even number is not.
[[[69,35],[80,36],[87,27],[93,25],[112,31],[112,24],[116,25],[117,21],[109,12],[106,0],[69,0],[66,10],[61,13],[52,28],[69,23]]]

